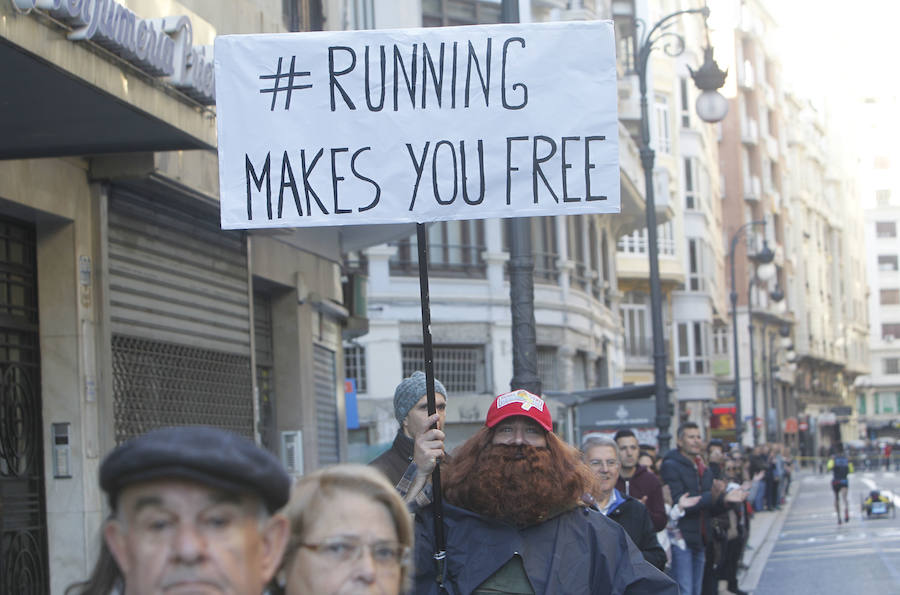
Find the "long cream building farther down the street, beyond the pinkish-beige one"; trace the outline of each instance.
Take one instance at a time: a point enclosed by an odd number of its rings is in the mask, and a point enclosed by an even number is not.
[[[853,170],[838,150],[841,130],[824,110],[788,97],[790,221],[785,248],[794,274],[787,288],[794,314],[797,412],[808,424],[807,454],[858,437],[856,379],[868,370],[863,214]]]

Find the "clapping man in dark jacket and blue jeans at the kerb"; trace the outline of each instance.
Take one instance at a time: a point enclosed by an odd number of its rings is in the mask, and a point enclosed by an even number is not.
[[[712,473],[700,458],[703,440],[700,428],[693,422],[678,428],[678,448],[663,457],[663,482],[672,492],[672,500],[677,502],[685,492],[700,495],[700,502],[685,511],[678,521],[686,548],[672,547],[672,574],[678,582],[682,595],[700,595],[703,587],[705,565],[704,543],[710,534],[709,518],[722,509],[722,494],[725,484],[714,480]],[[743,492],[734,491],[728,501],[740,501]]]

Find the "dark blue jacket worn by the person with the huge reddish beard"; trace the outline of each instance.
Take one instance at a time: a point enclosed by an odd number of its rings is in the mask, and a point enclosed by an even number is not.
[[[450,595],[471,593],[517,554],[539,595],[678,593],[669,577],[644,560],[625,530],[595,510],[575,508],[518,528],[445,502],[444,527],[444,587]],[[415,531],[413,592],[437,594],[431,506],[416,512]]]

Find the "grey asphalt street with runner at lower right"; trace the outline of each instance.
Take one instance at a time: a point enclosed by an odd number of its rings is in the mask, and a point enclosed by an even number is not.
[[[900,585],[900,520],[865,519],[861,498],[878,487],[900,494],[900,473],[850,476],[850,522],[838,526],[830,474],[801,474],[783,518],[762,546],[761,568],[748,573],[756,595],[782,593],[897,593]],[[799,488],[799,489],[798,489]],[[900,496],[893,495],[900,506]],[[786,514],[785,514],[786,513]],[[772,513],[764,513],[772,514]],[[779,527],[780,521],[783,524]],[[768,558],[765,558],[765,552]],[[756,566],[756,564],[754,564]]]

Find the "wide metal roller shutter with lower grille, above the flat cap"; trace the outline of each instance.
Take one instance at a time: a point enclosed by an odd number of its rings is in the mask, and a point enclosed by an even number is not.
[[[188,424],[253,436],[244,236],[113,189],[108,254],[117,441]]]

